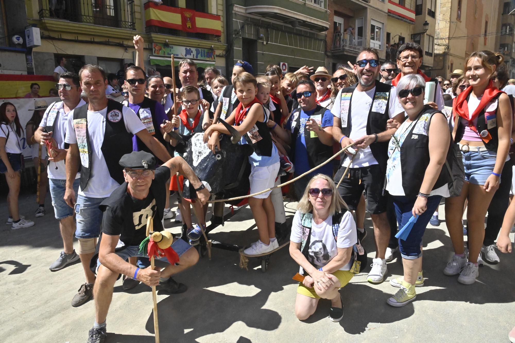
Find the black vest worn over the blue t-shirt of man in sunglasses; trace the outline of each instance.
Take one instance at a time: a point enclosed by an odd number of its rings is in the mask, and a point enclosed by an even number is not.
[[[327,108],[317,105],[315,108],[315,112],[311,115],[320,115],[320,119],[323,118],[323,115],[327,111]],[[297,108],[291,115],[293,116],[293,121],[291,121],[291,150],[290,156],[291,159],[295,162],[295,148],[297,145],[297,136],[300,131],[300,112],[301,108]],[[295,113],[299,115],[295,118]],[[333,147],[328,146],[320,142],[320,138],[314,137],[311,138],[311,131],[308,131],[304,126],[304,140],[306,142],[306,150],[307,150],[307,162],[310,164],[310,168],[314,168],[321,163],[328,160],[331,156],[333,156]],[[298,158],[303,159],[305,156],[299,156]]]

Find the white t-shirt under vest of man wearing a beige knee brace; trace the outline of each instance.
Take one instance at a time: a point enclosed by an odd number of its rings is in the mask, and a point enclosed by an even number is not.
[[[77,144],[77,135],[73,126],[73,112],[68,113],[66,122],[66,138],[64,142]],[[104,154],[102,154],[102,143],[104,143],[104,133],[106,130],[107,107],[103,110],[93,112],[88,111],[88,132],[90,137],[89,149],[91,154],[91,174],[88,185],[84,190],[79,187],[79,194],[91,198],[106,198],[119,186],[119,183],[111,178],[107,168]],[[138,118],[136,113],[128,107],[123,108],[122,112],[125,129],[127,132],[136,134],[141,130],[146,130],[145,125]],[[116,149],[117,147],[113,147]]]

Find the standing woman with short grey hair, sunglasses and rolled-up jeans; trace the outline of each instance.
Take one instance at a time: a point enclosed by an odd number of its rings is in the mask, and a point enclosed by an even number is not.
[[[387,300],[397,307],[415,300],[415,287],[424,285],[422,236],[442,196],[449,196],[451,181],[447,169],[442,170],[451,141],[447,117],[424,105],[424,88],[425,80],[418,74],[399,80],[397,94],[407,117],[388,145],[386,190],[393,200],[399,228],[412,216],[417,217],[408,237],[399,238],[404,275],[390,280],[400,289]]]

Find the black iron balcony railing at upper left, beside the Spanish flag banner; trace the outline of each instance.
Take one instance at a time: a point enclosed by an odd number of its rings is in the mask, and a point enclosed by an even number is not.
[[[38,0],[39,18],[136,29],[134,0]]]

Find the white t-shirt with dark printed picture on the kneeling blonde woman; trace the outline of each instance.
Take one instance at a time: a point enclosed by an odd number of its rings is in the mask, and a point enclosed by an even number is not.
[[[300,243],[302,236],[302,220],[299,210],[293,217],[291,225],[290,241]],[[315,224],[313,220],[311,226],[311,239],[307,244],[310,245],[308,250],[308,261],[318,268],[323,267],[338,254],[338,248],[349,248],[357,243],[356,223],[352,214],[347,211],[340,221],[338,229],[338,241],[333,236],[333,217],[329,216],[321,224]],[[340,270],[350,270],[352,260]]]

